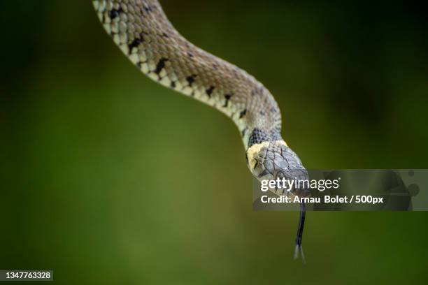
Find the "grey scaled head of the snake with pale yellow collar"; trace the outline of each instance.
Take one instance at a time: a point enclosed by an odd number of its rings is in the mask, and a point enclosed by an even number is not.
[[[299,157],[283,140],[261,142],[247,150],[248,168],[260,182],[263,180],[308,180],[308,171]],[[286,189],[273,189],[274,193],[284,195]],[[292,187],[290,193],[295,196],[308,196],[304,187]]]

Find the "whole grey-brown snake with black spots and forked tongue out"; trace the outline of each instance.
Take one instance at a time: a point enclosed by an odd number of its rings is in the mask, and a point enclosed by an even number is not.
[[[278,103],[261,82],[187,41],[157,0],[92,3],[107,34],[142,73],[231,118],[241,133],[248,168],[257,180],[307,179],[301,160],[281,136]],[[285,195],[285,189],[273,192]],[[292,193],[299,196],[297,191]],[[300,203],[295,258],[304,259],[305,213],[305,204]]]

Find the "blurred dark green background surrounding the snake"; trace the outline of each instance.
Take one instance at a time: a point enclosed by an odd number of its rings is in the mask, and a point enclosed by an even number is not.
[[[244,68],[307,168],[427,168],[428,22],[408,1],[164,0]],[[57,284],[426,284],[425,212],[253,212],[234,124],[141,75],[90,1],[1,1],[0,269]]]

